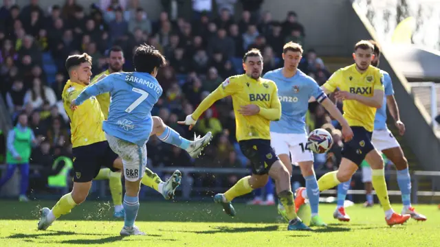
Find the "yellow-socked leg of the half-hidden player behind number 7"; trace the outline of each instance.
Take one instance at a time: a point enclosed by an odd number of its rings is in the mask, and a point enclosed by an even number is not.
[[[109,180],[111,199],[113,200],[113,217],[124,217],[124,207],[122,207],[122,181],[121,172],[111,172],[110,168],[100,169],[98,176],[94,180]]]

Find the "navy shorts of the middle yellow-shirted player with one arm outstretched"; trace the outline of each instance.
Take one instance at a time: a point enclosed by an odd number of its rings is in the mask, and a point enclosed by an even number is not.
[[[270,140],[250,139],[239,141],[239,145],[241,152],[250,160],[252,174],[267,174],[272,164],[278,161]]]

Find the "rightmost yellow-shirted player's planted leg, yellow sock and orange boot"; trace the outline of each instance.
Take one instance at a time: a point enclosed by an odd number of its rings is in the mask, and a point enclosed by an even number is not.
[[[365,160],[371,165],[371,169],[373,169],[373,172],[371,172],[371,182],[373,183],[377,198],[379,198],[380,204],[382,204],[382,209],[385,211],[386,224],[388,224],[388,226],[404,224],[411,216],[395,213],[391,208],[386,188],[384,160],[382,159],[382,156],[377,150],[371,150],[366,154]]]

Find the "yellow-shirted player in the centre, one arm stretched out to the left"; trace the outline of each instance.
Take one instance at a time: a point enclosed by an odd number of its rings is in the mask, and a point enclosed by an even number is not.
[[[197,119],[214,102],[232,96],[236,123],[236,139],[243,154],[252,163],[252,175],[241,178],[225,193],[214,196],[214,202],[223,206],[225,213],[235,215],[231,201],[237,196],[264,187],[269,176],[274,178],[276,192],[287,211],[288,230],[310,230],[296,215],[294,194],[290,187],[289,172],[278,159],[270,145],[270,121],[281,117],[278,89],[272,80],[261,78],[263,57],[258,49],[248,51],[243,57],[245,74],[226,79],[215,91],[203,99],[197,109],[179,124],[195,125]]]

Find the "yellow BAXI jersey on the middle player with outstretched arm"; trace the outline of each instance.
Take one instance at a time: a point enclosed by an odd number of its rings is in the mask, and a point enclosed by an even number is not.
[[[278,99],[278,89],[275,82],[264,78],[254,80],[248,75],[235,75],[226,79],[210,93],[192,113],[197,120],[215,101],[232,96],[232,106],[235,113],[237,141],[249,139],[270,140],[270,121],[278,121],[281,117],[281,102]],[[255,104],[260,107],[257,115],[243,116],[237,110],[240,106]]]

